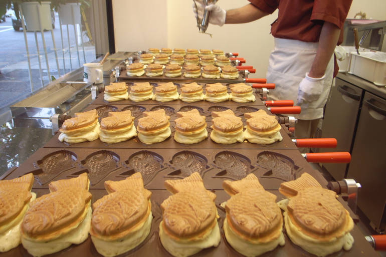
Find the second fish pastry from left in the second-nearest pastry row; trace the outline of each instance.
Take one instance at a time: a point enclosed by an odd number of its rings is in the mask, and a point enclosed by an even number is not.
[[[101,119],[100,130],[99,139],[105,143],[118,143],[137,135],[130,110],[109,112],[107,117]]]

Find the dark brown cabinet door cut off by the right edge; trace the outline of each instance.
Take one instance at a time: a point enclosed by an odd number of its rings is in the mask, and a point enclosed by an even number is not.
[[[366,92],[347,177],[362,185],[358,207],[379,228],[386,222],[386,100]],[[383,218],[382,218],[383,217]],[[383,221],[382,221],[383,219]]]

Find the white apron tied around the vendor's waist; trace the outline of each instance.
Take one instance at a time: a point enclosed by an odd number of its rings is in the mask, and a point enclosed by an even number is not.
[[[275,83],[268,100],[292,100],[296,105],[298,87],[306,72],[311,69],[318,43],[275,38],[275,48],[269,57],[267,83]],[[334,56],[327,65],[323,91],[318,100],[300,105],[301,113],[291,115],[301,120],[314,120],[323,117],[323,107],[332,85]]]

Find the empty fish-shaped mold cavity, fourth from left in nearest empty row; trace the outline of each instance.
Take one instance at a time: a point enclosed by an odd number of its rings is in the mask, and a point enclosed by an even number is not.
[[[203,155],[191,151],[182,151],[173,155],[171,164],[177,168],[169,175],[180,175],[187,177],[194,172],[198,172],[201,176],[208,169],[208,159]]]

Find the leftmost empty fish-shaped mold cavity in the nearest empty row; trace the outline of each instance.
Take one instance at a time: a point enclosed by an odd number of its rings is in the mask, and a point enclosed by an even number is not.
[[[39,183],[44,185],[64,171],[74,168],[76,160],[76,154],[67,150],[56,151],[44,156],[36,163],[43,171],[36,174]]]

